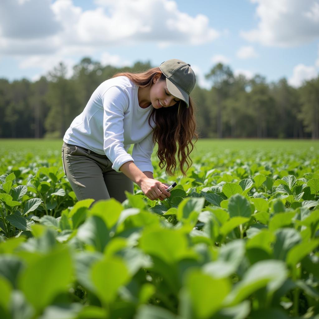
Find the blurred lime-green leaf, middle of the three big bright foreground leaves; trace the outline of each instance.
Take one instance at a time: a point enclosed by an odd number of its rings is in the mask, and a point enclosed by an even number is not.
[[[130,274],[124,262],[118,257],[113,257],[94,263],[91,278],[97,296],[108,304],[116,298],[118,289],[129,282]]]

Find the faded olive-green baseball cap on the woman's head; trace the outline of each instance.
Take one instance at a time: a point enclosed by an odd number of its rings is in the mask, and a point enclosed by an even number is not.
[[[166,76],[166,84],[169,93],[181,99],[189,108],[189,94],[193,90],[196,77],[190,64],[177,59],[163,62],[159,69]]]

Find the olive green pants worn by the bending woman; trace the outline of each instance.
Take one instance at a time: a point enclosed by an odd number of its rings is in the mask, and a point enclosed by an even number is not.
[[[112,168],[106,155],[63,143],[63,171],[78,200],[95,201],[114,197],[119,202],[126,199],[124,191],[133,193],[133,182]]]

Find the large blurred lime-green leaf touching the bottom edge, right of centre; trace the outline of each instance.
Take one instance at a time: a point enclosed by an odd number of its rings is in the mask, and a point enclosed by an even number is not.
[[[231,290],[227,278],[212,278],[200,270],[187,273],[184,287],[198,319],[209,318],[222,308],[222,303]]]

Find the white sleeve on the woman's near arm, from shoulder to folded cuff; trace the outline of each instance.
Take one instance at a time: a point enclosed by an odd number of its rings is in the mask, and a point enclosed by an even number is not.
[[[134,159],[124,149],[124,112],[128,108],[129,98],[117,86],[110,87],[102,95],[103,113],[103,149],[108,159],[113,163],[112,168],[120,172],[119,168]]]

